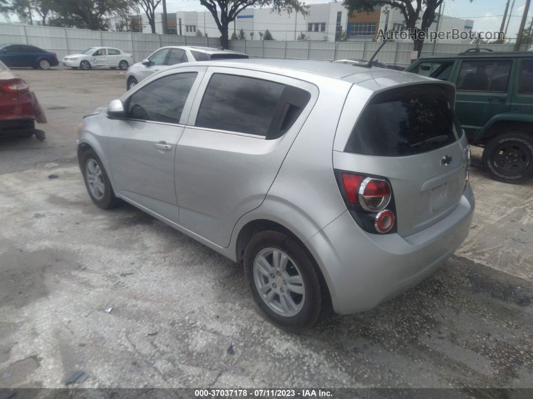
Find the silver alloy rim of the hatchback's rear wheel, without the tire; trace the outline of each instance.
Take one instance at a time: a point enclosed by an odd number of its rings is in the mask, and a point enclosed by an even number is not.
[[[263,302],[281,316],[302,310],[305,286],[298,267],[278,248],[265,248],[254,260],[254,282]]]

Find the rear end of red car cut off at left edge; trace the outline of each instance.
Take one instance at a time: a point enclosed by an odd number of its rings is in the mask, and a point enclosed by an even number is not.
[[[37,97],[0,61],[0,136],[29,137],[36,132],[35,121],[46,123]]]

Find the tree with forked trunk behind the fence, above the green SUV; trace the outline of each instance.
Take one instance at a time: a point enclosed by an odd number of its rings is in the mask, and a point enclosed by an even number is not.
[[[422,51],[425,36],[433,21],[435,20],[435,11],[444,0],[343,0],[343,5],[350,13],[372,12],[376,7],[389,6],[392,9],[400,10],[405,20],[406,29],[409,31],[415,44],[414,51],[418,56]],[[472,0],[470,0],[472,2]],[[424,10],[422,10],[424,8]],[[420,27],[417,27],[420,14],[422,20]]]

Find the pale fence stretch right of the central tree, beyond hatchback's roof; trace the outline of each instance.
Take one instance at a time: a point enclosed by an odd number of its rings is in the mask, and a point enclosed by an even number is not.
[[[230,50],[240,51],[251,57],[289,58],[301,60],[369,59],[381,45],[378,42],[279,42],[276,40],[230,40]],[[475,44],[426,43],[422,56],[458,54],[476,47]],[[482,44],[479,47],[493,51],[513,51],[514,44]],[[526,50],[523,45],[521,50]],[[410,64],[413,43],[391,42],[385,44],[377,59],[381,62],[406,67]]]

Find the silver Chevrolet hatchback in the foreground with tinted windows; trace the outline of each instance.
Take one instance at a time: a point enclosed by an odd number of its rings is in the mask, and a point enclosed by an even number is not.
[[[83,119],[103,209],[127,201],[235,262],[292,330],[431,274],[469,232],[470,152],[453,85],[295,60],[183,64]]]

